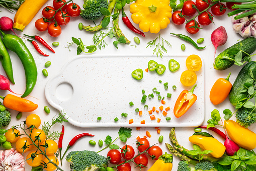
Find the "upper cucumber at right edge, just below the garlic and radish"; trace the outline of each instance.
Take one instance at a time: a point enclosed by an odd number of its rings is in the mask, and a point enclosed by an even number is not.
[[[232,59],[235,58],[235,55],[229,55],[227,52],[232,48],[238,48],[248,54],[253,53],[256,50],[256,38],[249,37],[246,39],[243,39],[242,41],[234,44],[233,46],[227,48],[223,52],[221,52],[214,61],[213,67],[216,70],[225,70],[229,67],[231,67],[234,64],[234,61],[228,60],[228,59],[222,59],[223,56],[230,57]],[[246,56],[245,53],[242,53],[242,57]]]

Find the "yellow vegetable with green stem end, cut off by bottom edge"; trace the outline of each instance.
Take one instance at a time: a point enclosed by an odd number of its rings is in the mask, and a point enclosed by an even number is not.
[[[173,154],[161,155],[147,171],[172,171]]]

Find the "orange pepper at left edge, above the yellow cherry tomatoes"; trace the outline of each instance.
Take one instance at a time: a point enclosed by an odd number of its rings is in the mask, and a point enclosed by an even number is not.
[[[13,109],[19,112],[32,112],[37,109],[38,105],[33,102],[14,96],[7,95],[6,97],[0,96],[4,100],[3,104],[6,108]]]

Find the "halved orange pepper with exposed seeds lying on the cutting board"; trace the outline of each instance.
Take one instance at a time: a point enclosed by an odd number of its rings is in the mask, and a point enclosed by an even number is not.
[[[197,96],[193,93],[196,87],[197,85],[195,85],[191,89],[191,91],[184,90],[180,94],[174,106],[174,115],[177,118],[180,118],[182,115],[184,115],[189,110],[189,108],[196,102]]]

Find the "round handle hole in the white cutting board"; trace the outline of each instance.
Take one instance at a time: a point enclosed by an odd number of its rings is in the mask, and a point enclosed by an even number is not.
[[[56,97],[60,101],[68,101],[73,96],[73,87],[68,82],[61,82],[55,92]]]

